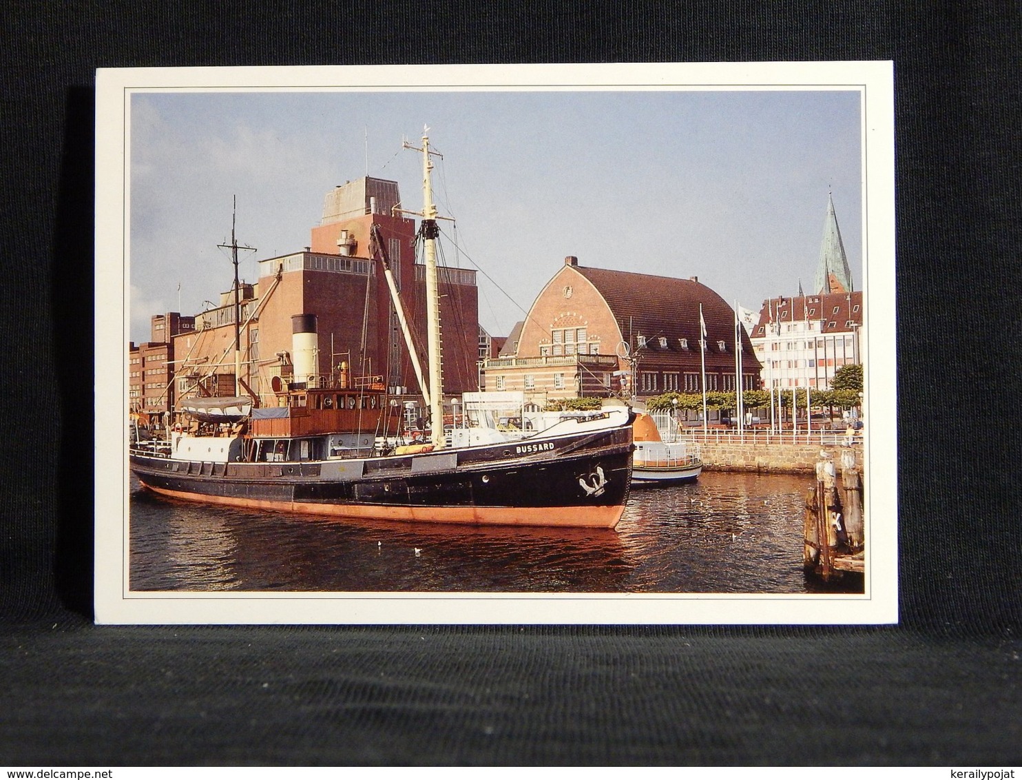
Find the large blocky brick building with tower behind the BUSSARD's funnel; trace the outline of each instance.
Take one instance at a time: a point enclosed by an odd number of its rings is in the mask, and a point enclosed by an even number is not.
[[[375,376],[396,393],[418,394],[387,285],[370,257],[370,229],[379,226],[413,335],[425,359],[425,271],[415,262],[416,223],[391,215],[397,182],[366,177],[326,194],[311,245],[259,262],[260,278],[241,285],[239,392],[275,403],[274,377],[329,381],[345,363],[353,376]],[[475,272],[437,269],[445,393],[478,386],[478,304]],[[173,339],[179,356],[178,398],[234,394],[234,295],[195,316],[194,330]],[[292,320],[317,321],[316,370],[293,377]]]

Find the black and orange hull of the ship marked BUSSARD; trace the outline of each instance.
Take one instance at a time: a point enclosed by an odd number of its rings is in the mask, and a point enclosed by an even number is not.
[[[416,455],[210,463],[133,453],[162,496],[353,519],[613,527],[632,478],[628,426]]]

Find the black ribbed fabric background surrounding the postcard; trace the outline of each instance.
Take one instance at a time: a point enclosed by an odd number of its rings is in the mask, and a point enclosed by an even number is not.
[[[0,19],[0,765],[1022,764],[1017,3]],[[92,626],[95,67],[786,59],[895,62],[898,627]]]

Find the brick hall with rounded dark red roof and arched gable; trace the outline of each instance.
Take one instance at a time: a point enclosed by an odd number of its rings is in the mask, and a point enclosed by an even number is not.
[[[575,396],[701,392],[700,306],[706,388],[734,391],[735,313],[713,290],[695,277],[588,268],[566,258],[515,334],[516,352],[484,364],[485,389],[523,391],[541,406]],[[759,363],[739,330],[742,385],[758,388]]]

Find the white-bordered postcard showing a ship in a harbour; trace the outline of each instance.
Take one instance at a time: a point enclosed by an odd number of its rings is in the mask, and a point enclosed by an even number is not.
[[[96,621],[897,621],[890,62],[100,70]]]

